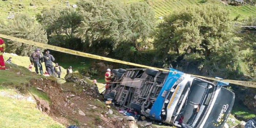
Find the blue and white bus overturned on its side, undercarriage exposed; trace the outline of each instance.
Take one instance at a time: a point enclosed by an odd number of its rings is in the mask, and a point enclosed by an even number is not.
[[[233,92],[170,68],[114,69],[114,82],[104,95],[120,107],[181,128],[223,128],[234,104]]]

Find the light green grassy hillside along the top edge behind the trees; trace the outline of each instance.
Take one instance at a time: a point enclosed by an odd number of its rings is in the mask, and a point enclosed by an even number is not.
[[[37,15],[42,8],[50,8],[54,5],[61,5],[63,7],[71,7],[77,0],[68,0],[69,6],[65,0],[14,0],[2,1],[0,0],[0,18],[7,18],[16,12],[26,12],[30,15]],[[145,0],[122,0],[124,3],[143,2]],[[256,16],[256,7],[251,5],[245,6],[231,6],[221,3],[220,0],[146,0],[155,11],[155,17],[164,17],[171,12],[185,8],[188,5],[199,5],[202,3],[219,4],[230,10],[231,17],[239,19],[248,18],[248,16]]]

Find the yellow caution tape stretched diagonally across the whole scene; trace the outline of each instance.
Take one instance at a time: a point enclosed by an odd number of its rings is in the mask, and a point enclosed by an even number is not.
[[[16,41],[16,42],[21,42],[21,43],[28,44],[28,45],[38,46],[38,47],[45,48],[45,49],[51,49],[51,50],[55,50],[55,51],[59,51],[59,52],[63,52],[63,53],[74,54],[74,55],[77,55],[77,56],[83,56],[83,57],[88,57],[88,58],[93,58],[93,59],[98,59],[98,60],[105,60],[105,61],[110,61],[110,62],[115,62],[115,63],[120,63],[120,64],[127,64],[127,65],[132,65],[132,66],[137,66],[137,67],[151,68],[151,69],[157,69],[157,70],[160,70],[160,71],[169,72],[169,70],[162,69],[162,68],[150,67],[150,66],[146,66],[146,65],[142,65],[142,64],[135,64],[135,63],[130,63],[130,62],[122,61],[122,60],[111,59],[111,58],[108,58],[108,57],[97,56],[97,55],[94,55],[94,54],[83,53],[83,52],[79,52],[79,51],[75,51],[75,50],[61,48],[61,47],[58,47],[58,46],[43,44],[43,43],[30,41],[30,40],[26,40],[26,39],[21,39],[21,38],[16,38],[16,37],[11,37],[9,35],[0,34],[0,37],[5,38],[5,39],[10,39],[10,40]],[[199,75],[192,75],[192,76],[196,76],[196,77],[203,78],[203,79],[219,80],[219,79],[205,77],[205,76],[199,76]],[[255,87],[256,88],[256,83],[255,82],[246,82],[246,81],[240,81],[240,80],[227,80],[227,79],[223,79],[223,80],[220,80],[220,81],[229,82],[231,84],[237,84],[237,85],[241,85],[241,86]]]

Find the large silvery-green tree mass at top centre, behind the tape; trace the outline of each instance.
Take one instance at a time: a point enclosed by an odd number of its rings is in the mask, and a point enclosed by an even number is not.
[[[146,3],[124,5],[117,0],[79,0],[77,5],[84,16],[77,37],[90,47],[108,44],[101,47],[105,55],[121,43],[139,46],[154,28],[154,12]]]

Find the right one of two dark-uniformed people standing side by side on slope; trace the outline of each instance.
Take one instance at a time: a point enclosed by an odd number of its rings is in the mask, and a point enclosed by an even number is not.
[[[55,61],[54,57],[50,54],[50,51],[47,50],[45,55],[42,57],[42,62],[45,63],[45,69],[49,75],[54,75],[54,69],[52,62]]]

